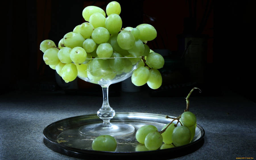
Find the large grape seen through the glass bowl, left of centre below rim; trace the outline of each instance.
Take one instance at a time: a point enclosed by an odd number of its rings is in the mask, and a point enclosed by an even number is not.
[[[96,77],[102,77],[103,75],[109,72],[108,68],[110,68],[108,59],[95,58],[92,61],[90,61],[88,66],[90,74]]]

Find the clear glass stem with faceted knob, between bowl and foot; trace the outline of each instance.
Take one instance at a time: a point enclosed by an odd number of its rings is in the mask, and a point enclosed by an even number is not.
[[[110,127],[110,119],[112,119],[115,116],[115,111],[110,107],[108,103],[108,87],[107,86],[101,86],[102,92],[103,92],[103,103],[102,107],[98,110],[97,115],[100,117],[100,119],[103,120],[103,127]]]

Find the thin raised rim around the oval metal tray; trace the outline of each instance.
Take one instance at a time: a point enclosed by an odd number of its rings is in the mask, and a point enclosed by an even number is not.
[[[120,113],[115,113],[115,115],[120,115],[120,114],[143,114],[143,115],[154,115],[154,116],[159,116],[159,117],[165,117],[166,115],[160,115],[160,114],[154,114],[154,113],[134,113],[134,112],[120,112]],[[202,133],[201,137],[197,140],[195,140],[194,142],[191,142],[189,144],[186,144],[186,145],[183,145],[183,146],[178,146],[178,147],[173,147],[173,148],[166,148],[166,149],[158,149],[158,150],[149,150],[149,151],[129,151],[129,152],[115,152],[115,151],[94,151],[94,150],[88,150],[88,149],[77,149],[77,148],[73,148],[73,147],[68,147],[68,146],[65,146],[65,145],[62,145],[62,144],[59,144],[57,142],[54,142],[52,140],[50,140],[47,136],[46,136],[46,131],[49,127],[51,127],[52,125],[58,123],[58,122],[61,122],[61,121],[65,121],[67,119],[73,119],[73,118],[79,118],[79,117],[84,117],[84,116],[97,116],[96,113],[94,114],[86,114],[86,115],[79,115],[79,116],[73,116],[73,117],[68,117],[68,118],[65,118],[65,119],[61,119],[61,120],[57,120],[49,125],[47,125],[44,130],[43,130],[43,136],[44,136],[44,139],[48,140],[49,142],[59,146],[59,147],[62,147],[68,151],[71,151],[73,153],[77,153],[77,154],[80,154],[80,155],[86,155],[86,154],[92,154],[92,155],[95,155],[95,154],[102,154],[102,155],[137,155],[137,154],[141,154],[141,153],[156,153],[156,152],[166,152],[166,150],[172,150],[172,151],[175,151],[175,150],[179,150],[181,148],[184,148],[184,147],[189,147],[191,145],[194,145],[198,142],[200,142],[204,136],[205,136],[205,130],[203,129],[202,126],[200,126],[199,124],[197,124],[197,127],[200,128],[200,131]],[[173,116],[169,116],[169,117],[173,117]],[[176,117],[174,117],[176,118]],[[128,120],[127,120],[128,121]],[[132,121],[132,120],[131,120]],[[111,122],[111,120],[110,120]],[[115,120],[113,121],[115,122]],[[76,127],[76,126],[73,126],[73,127]],[[72,128],[73,128],[72,127]]]

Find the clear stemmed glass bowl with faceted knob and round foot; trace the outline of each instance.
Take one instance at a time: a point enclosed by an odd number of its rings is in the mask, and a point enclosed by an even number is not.
[[[110,136],[122,136],[134,132],[134,127],[129,124],[116,122],[110,123],[110,119],[115,116],[115,110],[110,107],[108,102],[108,88],[111,84],[121,82],[129,78],[132,75],[133,71],[137,68],[139,62],[141,61],[141,57],[93,58],[87,60],[91,61],[91,65],[89,64],[87,67],[88,77],[78,77],[86,82],[99,84],[102,87],[103,103],[102,107],[97,111],[97,115],[100,119],[103,120],[103,122],[86,124],[84,126],[81,126],[79,128],[79,132],[87,136],[100,136],[105,134]],[[126,68],[123,69],[124,72],[118,71],[114,72],[113,74],[113,72],[108,72],[108,69],[101,68],[101,63],[105,63],[104,61],[112,61],[112,64],[114,64],[115,62],[120,64],[120,62],[122,62],[121,65],[125,66],[125,61],[127,60],[131,61],[132,63],[128,61],[130,64],[128,63],[129,65],[127,65]],[[102,66],[104,66],[104,64]],[[118,67],[118,65],[115,67]],[[105,78],[101,78],[101,76],[94,77],[90,74],[94,72],[96,74],[100,73],[104,75]]]

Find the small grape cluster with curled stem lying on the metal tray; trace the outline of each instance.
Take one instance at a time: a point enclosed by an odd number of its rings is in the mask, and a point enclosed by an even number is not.
[[[189,144],[195,136],[197,124],[195,115],[188,111],[189,96],[194,89],[198,88],[193,88],[188,94],[186,98],[187,108],[184,113],[177,118],[172,118],[173,120],[166,124],[159,132],[153,125],[142,126],[136,132],[136,140],[144,144],[148,150],[178,147]],[[166,118],[170,117],[166,116]],[[174,121],[176,122],[174,123]]]

